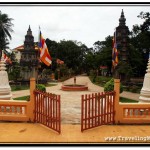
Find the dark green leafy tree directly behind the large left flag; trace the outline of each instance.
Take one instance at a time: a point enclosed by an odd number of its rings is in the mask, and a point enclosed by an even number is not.
[[[55,71],[58,67],[57,58],[64,61],[68,69],[72,69],[76,74],[83,72],[85,66],[85,55],[89,50],[85,44],[77,41],[62,40],[59,43],[46,40],[49,52],[52,56],[52,67]]]

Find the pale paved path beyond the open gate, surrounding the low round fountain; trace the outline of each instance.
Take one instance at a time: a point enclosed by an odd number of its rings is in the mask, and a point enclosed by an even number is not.
[[[74,79],[71,78],[65,83],[73,83]],[[96,92],[103,92],[104,89],[97,85],[94,85],[87,76],[77,76],[77,84],[87,84],[88,91],[62,91],[61,86],[62,82],[59,82],[56,86],[47,87],[46,91],[54,94],[61,95],[61,117],[62,123],[69,124],[79,124],[81,118],[81,95],[82,94],[91,94]],[[13,98],[19,96],[29,95],[29,90],[22,90],[12,92]],[[123,92],[120,96],[138,100],[139,94]]]

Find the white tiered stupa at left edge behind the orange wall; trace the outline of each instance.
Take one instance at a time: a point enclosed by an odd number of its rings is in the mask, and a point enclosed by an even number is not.
[[[0,61],[0,100],[12,100],[11,87],[9,85],[8,74],[2,56]]]

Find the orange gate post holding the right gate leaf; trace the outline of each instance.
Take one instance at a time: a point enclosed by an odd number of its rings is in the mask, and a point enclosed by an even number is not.
[[[119,99],[120,99],[120,79],[114,79],[115,93],[115,123],[119,123]]]

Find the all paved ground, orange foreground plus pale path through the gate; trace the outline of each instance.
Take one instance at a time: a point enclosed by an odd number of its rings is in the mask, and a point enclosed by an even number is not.
[[[72,83],[73,78],[65,81]],[[47,92],[61,95],[61,134],[39,123],[1,122],[0,141],[5,143],[149,143],[149,125],[102,125],[81,132],[81,95],[103,92],[103,88],[94,85],[87,76],[77,76],[77,83],[87,83],[88,91],[62,91],[62,82],[47,87]],[[12,92],[13,98],[29,94],[29,90]],[[138,94],[123,92],[130,97]],[[136,99],[137,97],[137,99]]]

